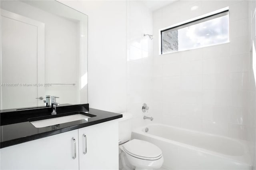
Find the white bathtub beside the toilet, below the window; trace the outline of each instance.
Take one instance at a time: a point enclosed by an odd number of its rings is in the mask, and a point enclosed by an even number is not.
[[[161,124],[137,128],[132,131],[132,138],[158,146],[164,156],[163,167],[167,169],[252,169],[245,141]]]

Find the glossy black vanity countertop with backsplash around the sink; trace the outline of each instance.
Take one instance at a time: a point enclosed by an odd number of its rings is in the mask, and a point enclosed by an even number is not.
[[[67,115],[82,114],[91,118],[58,125],[36,128],[30,121],[50,119]],[[44,138],[54,134],[88,127],[98,123],[121,118],[121,114],[89,109],[88,104],[57,107],[57,115],[51,115],[51,108],[9,110],[0,113],[0,148]]]

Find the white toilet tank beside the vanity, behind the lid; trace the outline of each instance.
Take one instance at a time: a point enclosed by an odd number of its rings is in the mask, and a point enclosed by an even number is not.
[[[119,144],[131,139],[132,135],[132,114],[122,113],[123,117],[118,119]]]

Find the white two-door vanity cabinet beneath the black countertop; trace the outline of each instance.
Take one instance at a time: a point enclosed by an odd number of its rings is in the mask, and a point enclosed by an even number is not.
[[[1,148],[0,169],[118,170],[118,121]]]

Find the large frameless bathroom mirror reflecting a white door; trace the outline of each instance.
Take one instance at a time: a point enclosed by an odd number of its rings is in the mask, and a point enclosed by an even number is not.
[[[88,16],[55,0],[1,0],[0,110],[88,103]]]

